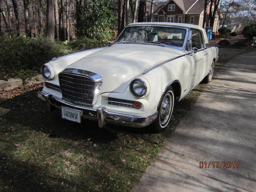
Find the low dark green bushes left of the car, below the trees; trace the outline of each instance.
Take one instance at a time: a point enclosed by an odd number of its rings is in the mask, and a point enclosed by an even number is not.
[[[0,79],[33,76],[42,64],[79,50],[105,46],[107,42],[80,38],[70,43],[50,42],[45,38],[0,38]]]

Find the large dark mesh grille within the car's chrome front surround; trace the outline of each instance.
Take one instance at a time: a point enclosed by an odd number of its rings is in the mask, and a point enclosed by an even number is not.
[[[62,97],[74,103],[92,105],[94,99],[94,81],[86,76],[59,74]]]

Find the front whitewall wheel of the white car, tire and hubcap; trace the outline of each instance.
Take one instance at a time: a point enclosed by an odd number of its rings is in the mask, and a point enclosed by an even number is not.
[[[160,106],[158,108],[157,119],[150,125],[151,129],[154,132],[160,132],[164,130],[170,122],[170,118],[172,116],[172,111],[174,108],[174,98],[174,90],[172,89],[172,87],[170,87],[164,93],[164,97],[162,97]]]

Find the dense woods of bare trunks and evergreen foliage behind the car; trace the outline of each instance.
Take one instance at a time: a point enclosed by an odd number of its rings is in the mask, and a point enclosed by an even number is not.
[[[0,0],[0,33],[70,41],[111,39],[130,22],[152,20],[158,0]],[[149,11],[147,11],[149,7]]]

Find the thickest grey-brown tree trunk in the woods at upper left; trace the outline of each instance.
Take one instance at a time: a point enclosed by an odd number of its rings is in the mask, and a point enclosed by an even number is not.
[[[50,41],[54,41],[54,28],[55,28],[54,0],[47,0],[46,23],[47,23],[47,38]]]

